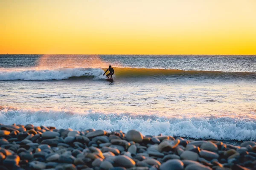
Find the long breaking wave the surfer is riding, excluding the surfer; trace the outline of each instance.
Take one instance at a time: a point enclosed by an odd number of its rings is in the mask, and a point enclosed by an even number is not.
[[[55,70],[0,71],[0,80],[62,80],[72,77],[105,79],[104,68],[61,68]],[[185,71],[155,68],[115,68],[115,78],[151,77],[160,79],[177,78],[245,78],[256,79],[255,72]]]

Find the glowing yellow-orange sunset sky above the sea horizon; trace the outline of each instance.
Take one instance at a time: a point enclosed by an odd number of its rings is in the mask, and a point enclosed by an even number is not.
[[[256,0],[0,0],[0,54],[256,54]]]

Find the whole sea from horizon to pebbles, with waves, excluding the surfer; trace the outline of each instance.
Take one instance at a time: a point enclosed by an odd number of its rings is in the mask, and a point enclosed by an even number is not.
[[[256,56],[0,55],[0,123],[256,140]]]

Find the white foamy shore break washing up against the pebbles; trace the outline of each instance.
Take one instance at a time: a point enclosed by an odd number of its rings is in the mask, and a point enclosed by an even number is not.
[[[104,130],[136,129],[144,135],[187,136],[202,139],[256,140],[256,115],[157,116],[102,111],[66,111],[61,109],[20,109],[0,107],[0,123],[33,124],[56,128]]]

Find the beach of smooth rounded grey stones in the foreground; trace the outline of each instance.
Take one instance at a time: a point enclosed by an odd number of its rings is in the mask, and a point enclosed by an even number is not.
[[[0,169],[228,170],[256,168],[256,142],[143,136],[137,130],[0,124]]]

